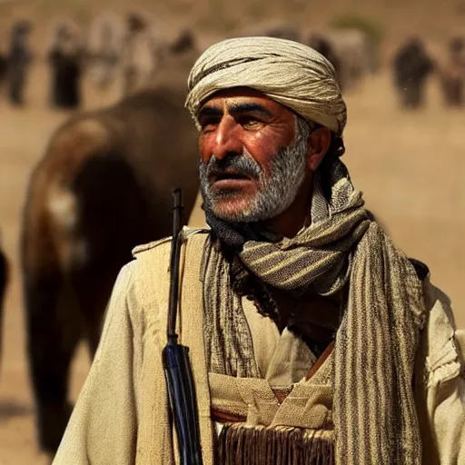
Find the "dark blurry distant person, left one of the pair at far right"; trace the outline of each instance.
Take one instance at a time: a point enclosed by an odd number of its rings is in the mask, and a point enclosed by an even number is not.
[[[425,84],[434,69],[421,40],[409,39],[394,57],[394,82],[403,108],[419,108],[424,102]]]

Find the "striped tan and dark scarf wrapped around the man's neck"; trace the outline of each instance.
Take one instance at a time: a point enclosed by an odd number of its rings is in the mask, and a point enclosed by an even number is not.
[[[336,464],[420,464],[411,390],[426,322],[420,281],[408,258],[364,209],[344,164],[334,160],[324,177],[326,186],[320,176],[314,179],[310,227],[277,242],[245,237],[235,260],[265,286],[286,291],[313,286],[330,296],[347,284],[334,345]],[[220,239],[224,235],[214,225],[213,233]],[[209,368],[260,377],[232,270],[221,248],[207,242],[203,308]]]

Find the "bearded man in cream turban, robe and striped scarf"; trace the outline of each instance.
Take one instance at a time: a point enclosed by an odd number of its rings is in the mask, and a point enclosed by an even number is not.
[[[463,463],[449,302],[341,163],[331,64],[291,41],[232,39],[188,86],[212,229],[184,233],[178,332],[203,464]],[[56,465],[179,463],[161,357],[170,242],[134,253]]]

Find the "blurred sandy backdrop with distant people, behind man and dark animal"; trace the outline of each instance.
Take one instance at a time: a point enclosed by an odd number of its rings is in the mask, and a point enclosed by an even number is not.
[[[292,38],[333,62],[352,180],[401,249],[428,264],[465,327],[465,1],[0,0],[0,243],[11,265],[0,465],[48,462],[35,437],[19,266],[31,171],[74,114],[150,87],[175,47],[200,53],[235,35]],[[203,224],[198,205],[191,224]],[[88,366],[80,347],[73,399]]]

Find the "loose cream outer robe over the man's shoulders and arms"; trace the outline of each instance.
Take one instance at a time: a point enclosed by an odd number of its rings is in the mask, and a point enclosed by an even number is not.
[[[200,264],[203,233],[192,233],[184,249],[181,340],[191,349],[199,401],[204,465],[213,464],[210,391],[205,369]],[[165,344],[170,242],[139,248],[114,286],[99,349],[54,465],[171,465],[161,352]],[[416,406],[425,465],[465,463],[465,334],[454,330],[450,302],[424,282],[430,319],[415,371]],[[270,328],[270,327],[269,327]],[[263,352],[257,331],[254,349]],[[272,343],[274,336],[266,341]],[[275,339],[275,341],[277,341]]]

